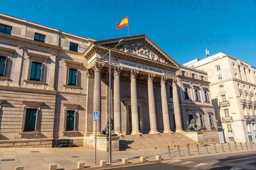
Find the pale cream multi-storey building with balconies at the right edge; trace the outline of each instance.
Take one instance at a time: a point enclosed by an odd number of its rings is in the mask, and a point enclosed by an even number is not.
[[[207,71],[209,89],[226,142],[256,140],[256,68],[222,52],[184,65]]]

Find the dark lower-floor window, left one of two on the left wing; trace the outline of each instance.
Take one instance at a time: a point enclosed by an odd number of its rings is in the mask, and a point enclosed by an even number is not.
[[[26,109],[24,132],[35,131],[38,109]]]

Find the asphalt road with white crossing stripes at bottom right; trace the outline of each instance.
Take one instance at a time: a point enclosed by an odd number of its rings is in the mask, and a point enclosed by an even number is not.
[[[256,151],[171,159],[160,163],[117,167],[110,170],[256,170]],[[108,169],[109,170],[109,169]]]

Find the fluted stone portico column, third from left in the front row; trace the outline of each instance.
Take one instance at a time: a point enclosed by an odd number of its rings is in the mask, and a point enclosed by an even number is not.
[[[140,133],[137,87],[136,87],[136,77],[138,72],[139,71],[131,70],[131,122],[132,122],[131,134],[132,135]]]

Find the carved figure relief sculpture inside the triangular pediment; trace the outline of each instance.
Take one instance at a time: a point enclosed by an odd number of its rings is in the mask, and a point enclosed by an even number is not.
[[[145,57],[148,59],[152,59],[154,61],[162,62],[162,63],[167,63],[165,59],[162,59],[159,57],[157,54],[154,54],[153,51],[148,49],[143,43],[136,43],[136,44],[131,44],[131,45],[123,45],[116,47],[116,49],[120,51],[124,51],[126,53],[134,54],[137,56]]]

